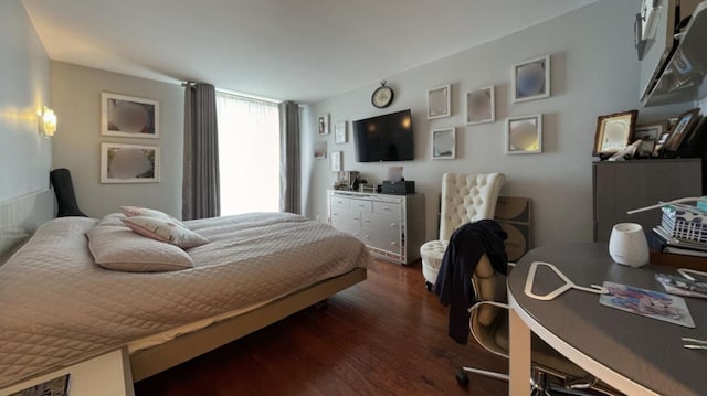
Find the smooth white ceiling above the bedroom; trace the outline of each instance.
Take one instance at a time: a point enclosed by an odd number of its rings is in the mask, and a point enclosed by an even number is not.
[[[23,0],[52,60],[312,103],[597,0]]]

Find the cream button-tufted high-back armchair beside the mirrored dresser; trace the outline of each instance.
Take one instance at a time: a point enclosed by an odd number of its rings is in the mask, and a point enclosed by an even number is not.
[[[428,289],[437,279],[444,250],[454,231],[469,222],[494,218],[496,200],[505,182],[503,173],[444,173],[440,240],[430,240],[420,247],[422,275]]]

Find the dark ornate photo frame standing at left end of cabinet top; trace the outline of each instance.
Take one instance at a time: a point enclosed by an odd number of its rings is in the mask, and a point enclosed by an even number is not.
[[[598,117],[592,154],[614,154],[629,146],[637,116],[639,110],[631,110]]]

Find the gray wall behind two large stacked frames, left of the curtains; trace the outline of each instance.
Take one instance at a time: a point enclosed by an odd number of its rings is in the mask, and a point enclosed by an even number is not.
[[[60,117],[54,137],[53,168],[67,168],[81,210],[92,217],[117,212],[118,205],[152,207],[181,217],[183,89],[173,84],[137,78],[73,64],[52,62],[52,103]],[[101,93],[159,100],[160,138],[101,136]],[[101,143],[159,145],[161,181],[101,184]]]

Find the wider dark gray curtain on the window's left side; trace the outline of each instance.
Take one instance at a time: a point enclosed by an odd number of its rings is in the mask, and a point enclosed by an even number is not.
[[[219,216],[220,195],[215,89],[210,84],[187,84],[182,218]]]

